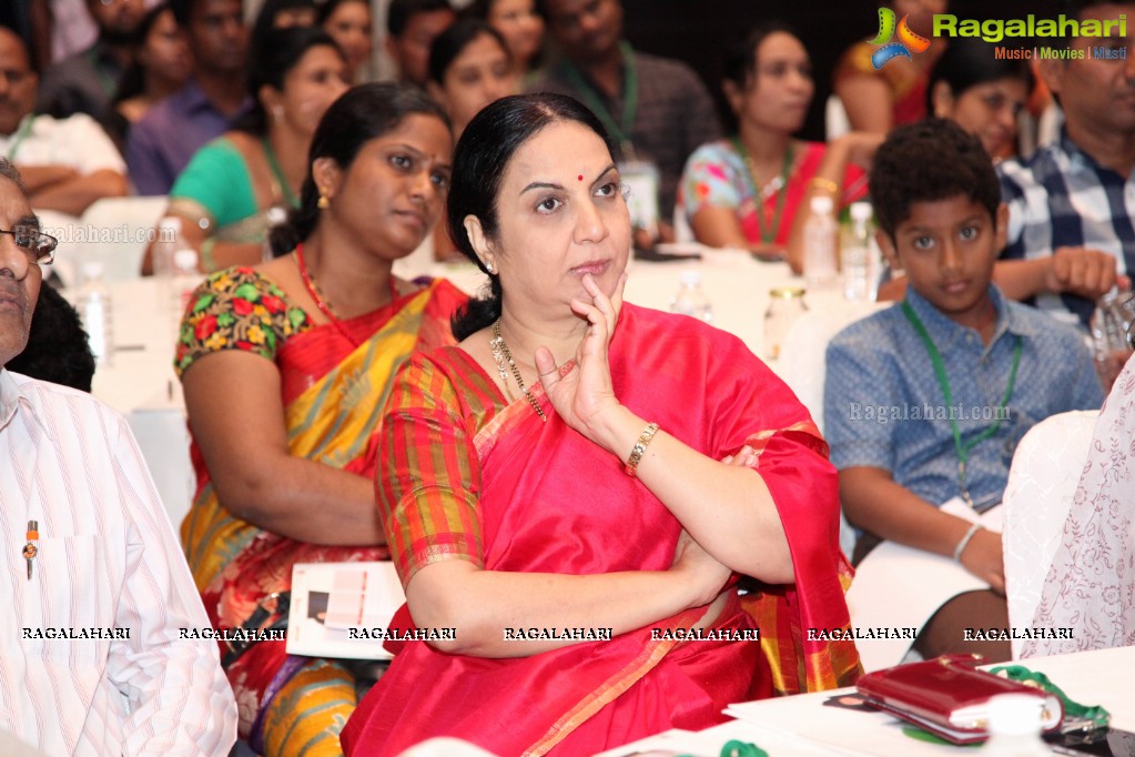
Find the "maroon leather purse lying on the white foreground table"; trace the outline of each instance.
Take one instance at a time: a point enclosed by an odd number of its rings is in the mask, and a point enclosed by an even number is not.
[[[867,704],[953,743],[984,741],[989,700],[1000,693],[1025,693],[1044,703],[1045,731],[1060,726],[1063,705],[1054,695],[975,667],[972,655],[944,655],[897,665],[861,676],[856,683]]]

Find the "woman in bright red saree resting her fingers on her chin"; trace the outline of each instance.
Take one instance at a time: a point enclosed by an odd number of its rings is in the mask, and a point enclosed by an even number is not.
[[[449,227],[493,289],[401,371],[378,472],[393,625],[435,638],[401,645],[348,755],[594,754],[858,672],[807,634],[848,623],[824,441],[739,340],[622,305],[613,154],[560,95],[498,100],[459,142]]]

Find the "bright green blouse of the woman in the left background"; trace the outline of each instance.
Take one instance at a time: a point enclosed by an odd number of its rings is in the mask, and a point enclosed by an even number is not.
[[[194,153],[174,182],[170,200],[185,197],[200,203],[219,229],[255,216],[255,194],[244,157],[226,137],[217,137]]]

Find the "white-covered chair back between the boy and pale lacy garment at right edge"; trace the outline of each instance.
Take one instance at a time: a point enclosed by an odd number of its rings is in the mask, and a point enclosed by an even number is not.
[[[1028,628],[1063,536],[1084,471],[1098,410],[1053,415],[1020,440],[1004,490],[1004,580],[1009,625]],[[1012,641],[1018,658],[1023,639]]]

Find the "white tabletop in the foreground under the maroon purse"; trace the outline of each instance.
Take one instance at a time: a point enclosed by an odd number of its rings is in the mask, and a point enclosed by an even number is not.
[[[1026,663],[1029,670],[1046,674],[1074,700],[1107,707],[1112,727],[1135,731],[1135,683],[1130,678],[1135,671],[1135,647],[1037,657]],[[885,713],[824,706],[835,693],[821,691],[734,705],[730,712],[743,720],[698,732],[667,731],[611,749],[599,757],[623,757],[651,749],[717,757],[731,739],[755,743],[771,757],[958,757],[973,751],[916,741],[902,733],[900,721]]]

